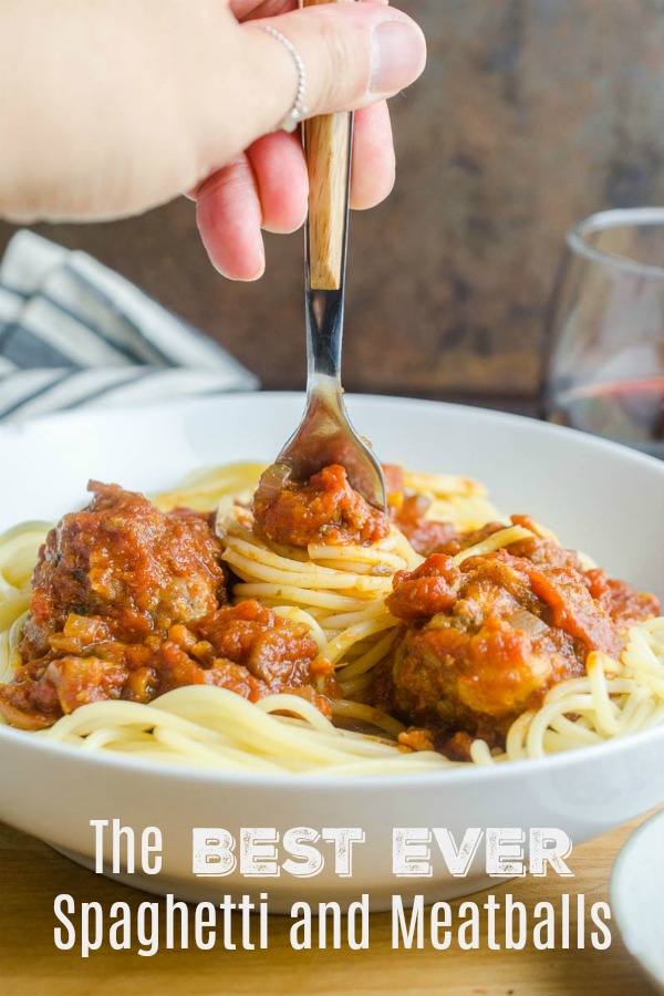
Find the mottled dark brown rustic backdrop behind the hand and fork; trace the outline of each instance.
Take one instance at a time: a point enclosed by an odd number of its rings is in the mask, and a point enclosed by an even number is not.
[[[664,2],[403,6],[427,31],[429,65],[393,102],[393,197],[353,217],[344,380],[532,397],[566,229],[604,207],[664,201]],[[186,315],[264,386],[302,385],[300,235],[268,237],[267,276],[232,286],[206,262],[184,200],[39,230]],[[11,231],[0,227],[0,248]]]

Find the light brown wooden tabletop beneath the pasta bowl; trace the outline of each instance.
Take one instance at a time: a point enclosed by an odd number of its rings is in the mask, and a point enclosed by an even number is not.
[[[615,855],[641,820],[574,849],[573,880],[527,878],[492,890],[510,891],[532,911],[548,900],[558,907],[563,892],[585,893],[587,909],[608,899]],[[270,921],[267,951],[159,950],[153,957],[102,947],[82,959],[53,943],[53,899],[70,893],[76,903],[96,900],[107,912],[123,900],[133,910],[147,899],[79,868],[49,847],[0,824],[0,990],[8,996],[87,994],[424,994],[458,996],[646,996],[646,982],[612,928],[606,951],[393,951],[390,914],[371,919],[365,951],[293,951],[290,920]],[[154,896],[149,896],[154,901]],[[479,898],[481,901],[481,896]],[[454,905],[458,905],[455,903]],[[134,920],[135,923],[135,920]],[[500,937],[501,930],[497,928]]]

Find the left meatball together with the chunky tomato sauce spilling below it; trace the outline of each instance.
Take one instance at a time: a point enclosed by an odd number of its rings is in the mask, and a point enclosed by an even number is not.
[[[0,714],[39,729],[80,706],[148,703],[184,685],[250,702],[290,692],[330,715],[333,665],[305,627],[258,602],[225,604],[221,543],[207,517],[165,515],[142,495],[92,485],[40,552],[23,664]]]

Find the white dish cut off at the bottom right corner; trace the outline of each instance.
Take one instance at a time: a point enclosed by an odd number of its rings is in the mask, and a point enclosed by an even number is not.
[[[664,993],[664,812],[639,828],[611,874],[611,910],[625,947]]]

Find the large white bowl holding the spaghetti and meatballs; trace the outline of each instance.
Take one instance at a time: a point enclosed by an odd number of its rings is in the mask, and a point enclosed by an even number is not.
[[[354,397],[354,423],[384,460],[479,478],[506,512],[529,512],[610,572],[664,594],[664,464],[579,433],[517,416],[428,402]],[[80,505],[87,478],[157,489],[194,468],[270,459],[295,426],[300,395],[230,395],[123,412],[85,412],[0,429],[0,528],[56,518]],[[664,728],[495,769],[364,779],[239,776],[85,756],[0,728],[0,819],[91,863],[90,820],[158,827],[164,864],[126,881],[189,900],[266,891],[273,912],[303,899],[373,909],[393,893],[428,900],[468,894],[489,880],[483,850],[466,878],[452,878],[432,847],[433,875],[395,879],[392,830],[446,827],[563,829],[574,844],[664,801]],[[199,879],[193,828],[360,827],[352,878],[328,861],[311,879]],[[106,852],[106,858],[110,852]],[[283,855],[282,855],[283,857]]]

